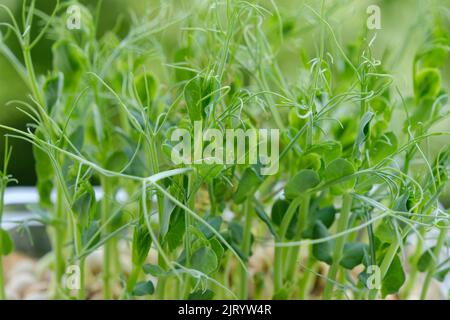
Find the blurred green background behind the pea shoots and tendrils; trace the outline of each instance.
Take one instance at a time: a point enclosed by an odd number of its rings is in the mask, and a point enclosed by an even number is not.
[[[165,4],[172,4],[172,10],[178,10],[183,14],[189,14],[192,2],[200,2],[204,5],[213,4],[213,0],[161,0]],[[94,10],[97,0],[80,1]],[[256,1],[250,1],[256,2]],[[119,33],[126,34],[129,12],[136,14],[145,9],[160,6],[162,2],[156,0],[105,0],[103,2],[99,20],[99,32],[101,36],[105,31],[112,29],[119,19],[123,19]],[[270,6],[269,0],[258,1]],[[279,0],[276,1],[280,15],[284,21],[284,28],[288,28],[286,38],[279,45],[278,59],[283,73],[287,79],[298,77],[296,70],[300,65],[300,49],[307,50],[314,56],[316,50],[316,35],[313,30],[317,22],[307,14],[304,4],[317,7],[320,1],[302,0]],[[22,1],[0,0],[0,4],[8,6],[17,19],[20,19]],[[55,1],[39,0],[37,7],[44,12],[51,12]],[[436,17],[441,17],[445,29],[450,34],[450,0],[426,1],[426,0],[327,0],[325,1],[327,18],[335,28],[339,41],[348,46],[356,42],[367,21],[366,9],[369,5],[376,4],[381,8],[382,29],[377,32],[375,56],[383,57],[382,63],[386,71],[394,75],[394,86],[397,86],[404,96],[412,94],[412,65],[414,55],[426,42],[427,36],[433,29]],[[7,15],[0,11],[0,21],[6,22]],[[167,56],[177,49],[177,39],[180,32],[179,26],[175,25],[171,30],[164,33],[162,37],[163,50]],[[277,39],[272,39],[276,41]],[[20,56],[19,48],[14,39],[10,38],[8,46]],[[51,68],[51,45],[50,39],[43,39],[33,50],[32,55],[37,73],[46,73]],[[443,72],[443,86],[449,88],[450,63],[446,62]],[[15,110],[14,106],[7,106],[11,100],[26,100],[27,88],[20,80],[12,67],[0,56],[0,123],[8,126],[24,129],[27,119]],[[450,127],[447,121],[436,130]],[[3,150],[3,136],[5,131],[0,131],[0,148]],[[10,173],[19,180],[22,185],[33,185],[35,183],[34,163],[31,146],[25,142],[11,141],[14,153],[10,166]],[[448,144],[448,138],[434,140],[434,148]]]

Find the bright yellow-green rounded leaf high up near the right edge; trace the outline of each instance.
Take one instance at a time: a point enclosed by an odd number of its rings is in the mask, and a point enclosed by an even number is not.
[[[414,77],[417,99],[436,98],[441,89],[441,73],[436,68],[425,68]]]

